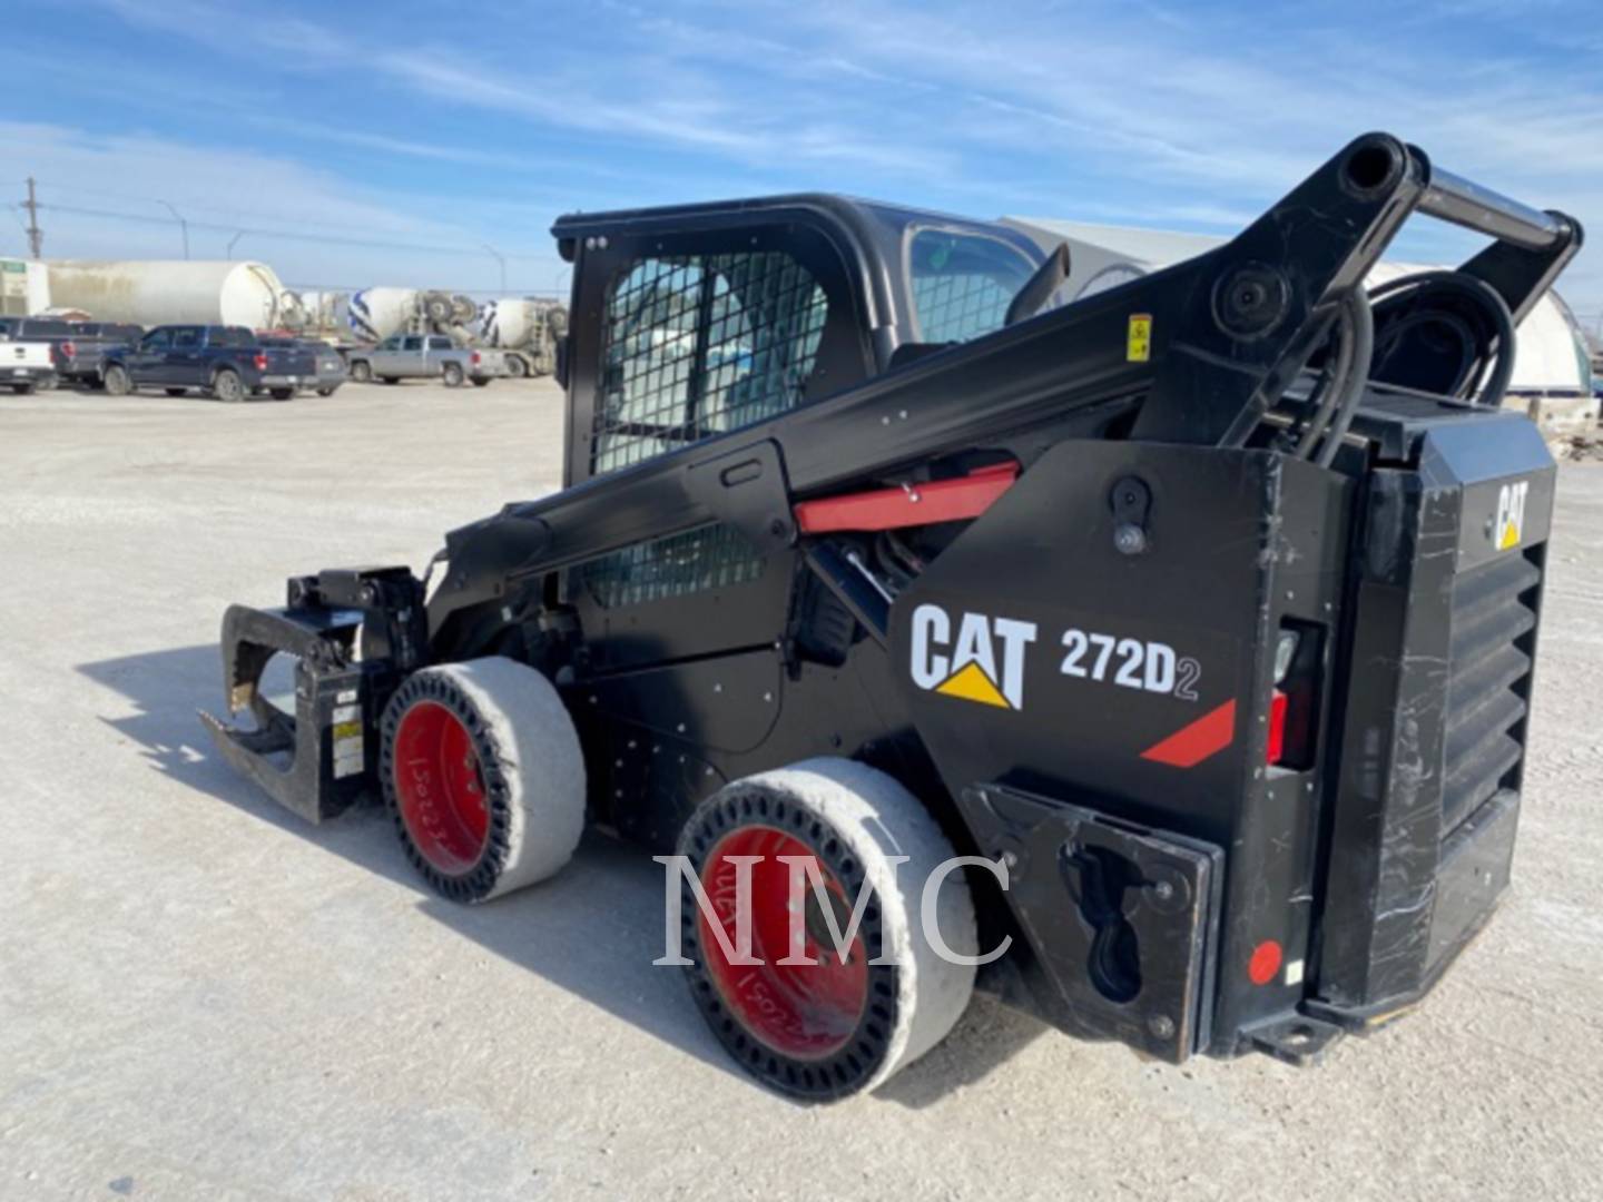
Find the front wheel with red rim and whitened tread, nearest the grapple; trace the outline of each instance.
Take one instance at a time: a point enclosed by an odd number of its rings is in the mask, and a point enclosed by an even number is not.
[[[407,859],[452,901],[555,875],[583,832],[574,721],[545,676],[500,655],[412,673],[385,708],[378,774]]]

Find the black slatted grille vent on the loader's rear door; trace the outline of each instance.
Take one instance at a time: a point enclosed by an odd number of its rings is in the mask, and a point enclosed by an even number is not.
[[[1540,548],[1472,567],[1452,585],[1441,835],[1513,787],[1531,699]]]

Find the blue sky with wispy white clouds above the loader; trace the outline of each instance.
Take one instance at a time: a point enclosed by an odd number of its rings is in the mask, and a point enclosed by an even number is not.
[[[5,10],[0,197],[38,178],[55,256],[175,256],[164,200],[196,258],[239,234],[290,282],[471,290],[484,244],[513,290],[561,282],[561,212],[797,189],[1231,232],[1385,128],[1592,224],[1561,287],[1603,311],[1595,0]]]

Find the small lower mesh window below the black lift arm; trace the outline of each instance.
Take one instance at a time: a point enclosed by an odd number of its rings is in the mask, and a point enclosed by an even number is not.
[[[744,585],[761,575],[763,558],[733,526],[702,526],[625,547],[579,571],[596,603],[614,609]]]

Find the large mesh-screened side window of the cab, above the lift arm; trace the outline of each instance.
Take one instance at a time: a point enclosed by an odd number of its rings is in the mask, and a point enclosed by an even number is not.
[[[824,290],[776,252],[648,258],[612,285],[590,470],[614,471],[802,399]]]

